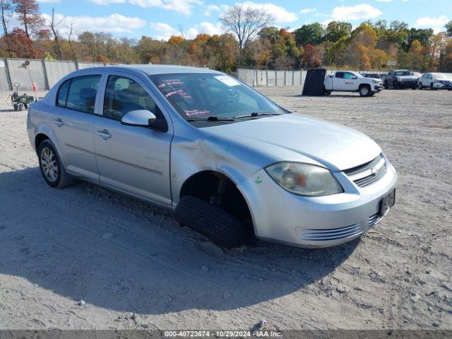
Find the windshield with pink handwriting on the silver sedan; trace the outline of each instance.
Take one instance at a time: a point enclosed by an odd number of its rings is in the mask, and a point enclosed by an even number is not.
[[[255,119],[265,114],[287,113],[237,79],[220,73],[171,73],[149,77],[186,120],[241,116]]]

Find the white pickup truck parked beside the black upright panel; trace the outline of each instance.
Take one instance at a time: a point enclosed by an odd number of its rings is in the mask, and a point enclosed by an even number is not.
[[[378,78],[364,78],[352,71],[336,71],[326,76],[323,81],[323,93],[330,95],[332,91],[358,92],[362,97],[374,95],[383,88],[383,82]]]

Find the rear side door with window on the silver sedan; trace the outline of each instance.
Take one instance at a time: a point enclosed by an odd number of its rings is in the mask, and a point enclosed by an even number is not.
[[[61,84],[51,121],[69,173],[99,182],[93,145],[93,121],[100,74],[78,76]]]

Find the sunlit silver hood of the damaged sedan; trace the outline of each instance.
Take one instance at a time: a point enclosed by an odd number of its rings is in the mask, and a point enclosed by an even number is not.
[[[362,165],[381,153],[379,145],[363,133],[295,113],[212,126],[206,130],[236,142],[248,140],[280,160],[292,160],[286,158],[286,151],[290,150],[331,170]]]

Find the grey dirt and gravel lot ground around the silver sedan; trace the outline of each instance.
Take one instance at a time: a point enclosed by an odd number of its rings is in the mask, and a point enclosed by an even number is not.
[[[331,249],[220,249],[93,184],[47,186],[1,93],[0,328],[452,329],[452,92],[259,90],[381,145],[399,184],[379,225]]]

